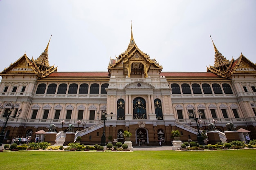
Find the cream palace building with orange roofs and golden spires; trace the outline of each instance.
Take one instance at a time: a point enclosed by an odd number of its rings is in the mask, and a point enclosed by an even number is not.
[[[103,121],[97,113],[104,110],[106,138],[124,141],[123,132],[129,130],[133,145],[158,145],[159,138],[171,145],[176,129],[182,141],[196,141],[196,122],[187,114],[193,110],[202,112],[201,130],[215,122],[224,132],[233,122],[256,138],[256,64],[243,54],[229,61],[212,41],[215,63],[207,72],[162,72],[161,64],[138,48],[131,30],[126,51],[110,59],[106,72],[58,72],[48,62],[49,42],[36,60],[24,54],[0,73],[0,130],[11,107],[12,115],[22,109],[7,122],[4,140],[34,139],[50,124],[66,132],[73,124],[81,143],[98,144]]]

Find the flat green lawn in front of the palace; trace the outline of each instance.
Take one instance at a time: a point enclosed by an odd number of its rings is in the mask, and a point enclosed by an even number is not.
[[[256,150],[0,152],[1,170],[247,170]]]

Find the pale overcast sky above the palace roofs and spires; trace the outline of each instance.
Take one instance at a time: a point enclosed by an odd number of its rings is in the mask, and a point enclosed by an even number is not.
[[[126,51],[130,20],[139,49],[163,71],[204,72],[214,49],[256,62],[256,0],[0,0],[0,71],[25,52],[36,59],[50,36],[58,71],[108,71]]]

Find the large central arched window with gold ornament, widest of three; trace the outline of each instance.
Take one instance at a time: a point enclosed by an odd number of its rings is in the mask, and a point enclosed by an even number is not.
[[[133,119],[147,119],[146,102],[141,97],[133,100]]]

